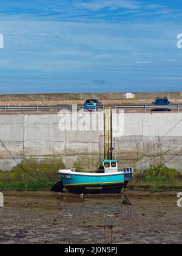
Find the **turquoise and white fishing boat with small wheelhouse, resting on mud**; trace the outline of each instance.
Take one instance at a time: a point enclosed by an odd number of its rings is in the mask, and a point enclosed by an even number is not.
[[[133,168],[119,170],[117,160],[103,160],[102,163],[95,173],[76,172],[74,168],[60,170],[63,188],[79,194],[121,193],[133,179]]]

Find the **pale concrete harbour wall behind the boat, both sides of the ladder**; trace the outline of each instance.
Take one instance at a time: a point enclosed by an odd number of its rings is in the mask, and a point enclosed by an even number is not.
[[[59,122],[55,114],[1,115],[0,138],[19,162],[30,160],[35,167],[98,167],[104,155],[104,129],[61,131]],[[99,123],[104,126],[104,118]],[[158,166],[182,151],[182,113],[124,113],[124,133],[113,140],[120,165],[136,165],[138,171]],[[149,162],[150,158],[154,159]],[[15,166],[0,145],[0,169],[11,171]],[[182,171],[182,153],[166,166]]]

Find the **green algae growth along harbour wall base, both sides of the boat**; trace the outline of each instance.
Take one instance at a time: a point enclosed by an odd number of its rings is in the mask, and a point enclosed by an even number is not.
[[[16,166],[11,172],[0,171],[0,190],[49,191],[52,185],[59,180],[58,169],[65,168],[60,162],[56,163],[54,161],[47,165],[47,163],[38,164],[31,161],[29,160],[29,162],[23,162],[22,164],[27,171],[43,182],[29,176],[19,166]],[[29,168],[26,166],[29,166]],[[144,172],[135,173],[134,179],[127,188],[129,190],[143,191],[182,191],[182,174],[180,172],[167,167],[162,167],[157,171],[154,171],[154,169],[155,166],[151,166],[150,169]],[[132,186],[135,182],[137,183]]]

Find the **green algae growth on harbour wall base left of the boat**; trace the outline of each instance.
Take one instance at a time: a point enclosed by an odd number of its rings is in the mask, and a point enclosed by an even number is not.
[[[21,165],[33,176],[16,166],[10,172],[0,170],[0,190],[19,191],[49,191],[59,180],[58,170],[64,169],[63,163],[55,159],[44,159],[41,162],[35,159],[23,160]]]

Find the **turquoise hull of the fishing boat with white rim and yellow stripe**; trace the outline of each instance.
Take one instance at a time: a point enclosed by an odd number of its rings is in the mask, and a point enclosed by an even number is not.
[[[63,187],[70,193],[103,194],[121,193],[124,174],[81,174],[79,172],[59,172]]]

